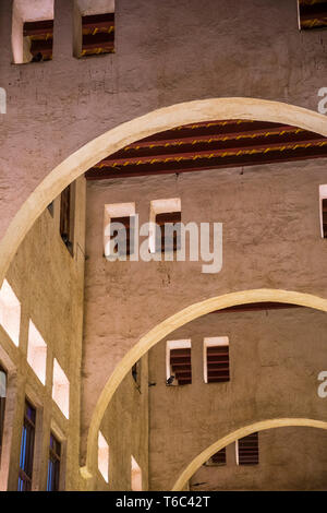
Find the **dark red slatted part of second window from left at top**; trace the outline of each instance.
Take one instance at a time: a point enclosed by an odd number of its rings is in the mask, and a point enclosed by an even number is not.
[[[114,13],[82,16],[82,57],[114,52]]]

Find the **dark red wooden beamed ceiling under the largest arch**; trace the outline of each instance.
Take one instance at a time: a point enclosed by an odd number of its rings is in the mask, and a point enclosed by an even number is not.
[[[143,139],[86,172],[88,180],[179,174],[327,156],[327,138],[251,120],[193,123]]]

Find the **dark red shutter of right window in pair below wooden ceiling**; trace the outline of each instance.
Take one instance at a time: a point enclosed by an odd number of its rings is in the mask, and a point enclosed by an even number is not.
[[[181,212],[156,215],[156,251],[178,251],[181,249]]]

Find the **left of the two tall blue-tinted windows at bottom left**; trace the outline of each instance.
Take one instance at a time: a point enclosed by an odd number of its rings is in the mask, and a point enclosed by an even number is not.
[[[32,490],[36,410],[25,401],[24,422],[21,442],[19,491]]]

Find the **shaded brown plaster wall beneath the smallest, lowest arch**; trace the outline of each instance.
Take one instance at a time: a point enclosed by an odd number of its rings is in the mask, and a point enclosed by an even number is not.
[[[235,444],[227,448],[227,465],[202,466],[192,491],[326,490],[327,432],[315,428],[277,428],[259,432],[259,465],[238,466]]]

